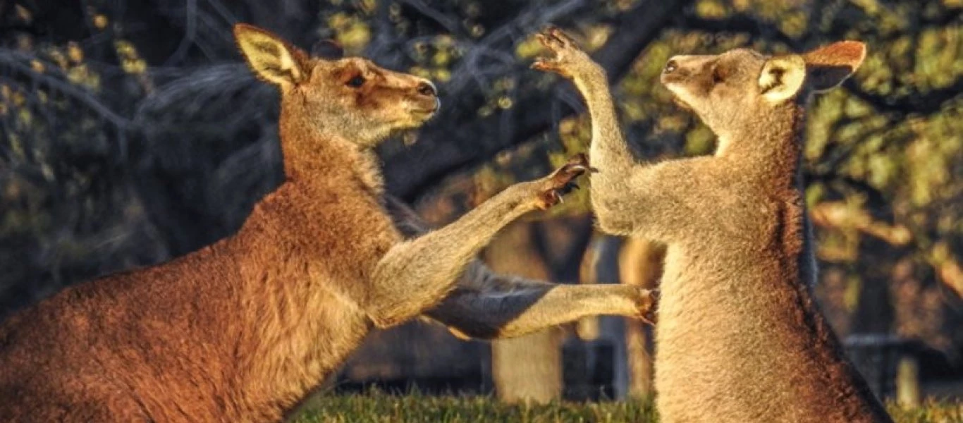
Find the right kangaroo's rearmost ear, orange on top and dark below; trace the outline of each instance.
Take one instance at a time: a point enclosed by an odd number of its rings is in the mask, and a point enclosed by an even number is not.
[[[866,44],[834,42],[802,55],[802,59],[806,62],[809,87],[817,92],[825,91],[842,84],[863,64]]]

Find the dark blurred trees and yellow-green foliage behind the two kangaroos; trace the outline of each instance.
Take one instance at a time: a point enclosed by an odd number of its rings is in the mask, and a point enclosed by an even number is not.
[[[0,0],[0,306],[214,242],[283,180],[276,93],[241,64],[235,22],[305,48],[339,40],[439,84],[442,115],[379,149],[389,191],[436,224],[585,149],[577,93],[527,69],[544,24],[606,66],[640,160],[714,148],[658,83],[671,55],[853,39],[870,45],[865,66],[808,123],[820,303],[843,334],[918,339],[958,364],[961,11],[960,0]],[[577,198],[519,229],[514,247],[531,248],[516,260],[542,268],[535,277],[580,279],[599,235]]]

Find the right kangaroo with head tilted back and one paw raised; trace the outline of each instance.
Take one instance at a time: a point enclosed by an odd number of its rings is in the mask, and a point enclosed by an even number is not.
[[[673,58],[664,85],[719,137],[716,154],[634,162],[605,73],[540,36],[592,115],[592,204],[612,233],[668,245],[656,337],[665,422],[888,422],[820,314],[799,171],[803,105],[858,67],[845,41],[800,56]]]

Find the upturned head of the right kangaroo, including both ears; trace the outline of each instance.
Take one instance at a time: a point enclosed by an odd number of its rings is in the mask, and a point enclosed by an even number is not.
[[[801,55],[768,57],[749,49],[715,56],[675,56],[663,85],[719,136],[751,128],[790,101],[840,85],[863,63],[866,45],[840,41]]]

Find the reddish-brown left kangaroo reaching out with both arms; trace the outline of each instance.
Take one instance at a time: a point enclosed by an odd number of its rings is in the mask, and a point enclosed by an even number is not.
[[[5,421],[276,421],[376,327],[428,312],[461,333],[510,336],[650,304],[643,290],[582,295],[472,262],[500,227],[558,202],[584,159],[435,231],[392,200],[393,222],[371,147],[430,117],[428,81],[311,59],[247,25],[235,35],[280,88],[287,180],[229,238],[66,288],[3,322]]]

